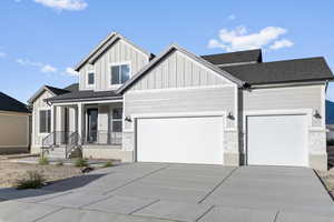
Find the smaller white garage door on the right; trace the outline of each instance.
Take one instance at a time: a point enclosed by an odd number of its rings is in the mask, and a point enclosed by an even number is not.
[[[306,115],[247,117],[247,162],[307,167]]]

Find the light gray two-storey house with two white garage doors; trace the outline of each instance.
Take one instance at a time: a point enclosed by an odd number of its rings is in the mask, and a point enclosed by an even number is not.
[[[31,99],[32,151],[122,161],[326,169],[324,58],[263,62],[261,50],[159,56],[111,33],[76,70],[78,90]]]

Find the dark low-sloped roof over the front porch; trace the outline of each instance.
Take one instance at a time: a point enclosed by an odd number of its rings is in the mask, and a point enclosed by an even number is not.
[[[75,91],[57,97],[47,99],[50,102],[63,102],[63,101],[89,101],[89,100],[116,100],[122,99],[120,94],[117,94],[116,91],[92,91],[92,90],[82,90]]]

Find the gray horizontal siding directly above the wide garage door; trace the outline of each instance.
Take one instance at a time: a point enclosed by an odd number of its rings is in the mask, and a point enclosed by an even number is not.
[[[125,94],[125,117],[171,112],[235,112],[235,101],[234,87],[132,92]],[[130,125],[126,123],[128,128]]]

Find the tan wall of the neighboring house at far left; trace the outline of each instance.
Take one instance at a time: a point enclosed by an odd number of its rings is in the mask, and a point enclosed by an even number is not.
[[[1,149],[29,147],[29,115],[0,113]]]

